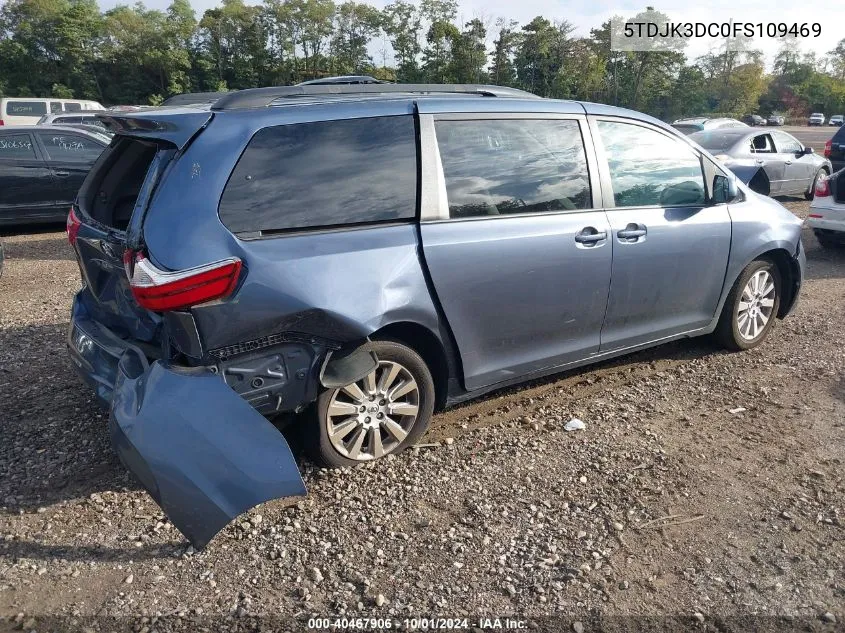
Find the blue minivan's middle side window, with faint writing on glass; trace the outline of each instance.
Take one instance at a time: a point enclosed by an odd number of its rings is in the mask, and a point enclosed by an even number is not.
[[[435,129],[452,218],[591,206],[578,121],[440,120]]]

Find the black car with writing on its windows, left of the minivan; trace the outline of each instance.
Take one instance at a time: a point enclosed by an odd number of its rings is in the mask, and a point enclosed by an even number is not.
[[[109,137],[50,125],[0,128],[0,226],[60,222]]]

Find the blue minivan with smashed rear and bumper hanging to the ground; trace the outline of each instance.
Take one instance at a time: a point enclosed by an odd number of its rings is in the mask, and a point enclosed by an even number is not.
[[[651,117],[479,85],[305,85],[103,115],[68,217],[71,359],[197,547],[432,413],[666,341],[763,341],[800,221]],[[290,414],[301,414],[291,416]]]

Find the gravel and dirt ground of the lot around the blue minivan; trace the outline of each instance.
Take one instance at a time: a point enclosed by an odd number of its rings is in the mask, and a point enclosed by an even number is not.
[[[843,629],[845,250],[810,233],[800,306],[757,350],[667,345],[441,414],[434,448],[303,461],[308,497],[200,553],[120,466],[71,372],[64,235],[3,240],[0,631],[352,614]],[[573,416],[586,430],[564,431]]]

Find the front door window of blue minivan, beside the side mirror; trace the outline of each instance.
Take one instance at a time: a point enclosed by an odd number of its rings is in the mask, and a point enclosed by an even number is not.
[[[598,129],[617,207],[704,204],[701,159],[685,143],[630,123],[599,121]]]

